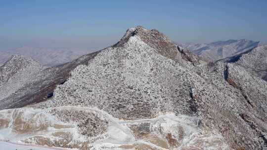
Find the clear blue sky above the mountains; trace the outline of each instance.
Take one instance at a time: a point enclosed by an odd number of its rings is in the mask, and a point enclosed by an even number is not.
[[[0,0],[0,49],[97,50],[137,25],[174,41],[267,41],[267,0]]]

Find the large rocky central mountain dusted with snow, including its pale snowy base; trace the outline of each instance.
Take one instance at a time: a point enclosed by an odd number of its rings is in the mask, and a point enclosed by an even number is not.
[[[131,28],[115,45],[50,70],[58,72],[40,83],[53,94],[2,110],[0,138],[81,150],[267,149],[266,81],[239,64],[205,61],[157,30]]]

